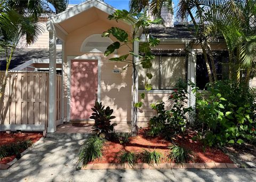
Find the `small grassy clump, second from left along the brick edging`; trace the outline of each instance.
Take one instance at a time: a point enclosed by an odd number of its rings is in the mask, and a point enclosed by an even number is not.
[[[133,167],[134,163],[137,160],[137,155],[134,152],[129,151],[120,151],[116,156],[116,161],[121,164],[129,164],[129,166]]]

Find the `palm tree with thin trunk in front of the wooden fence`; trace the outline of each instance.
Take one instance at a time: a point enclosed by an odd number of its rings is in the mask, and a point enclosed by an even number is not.
[[[6,56],[6,70],[0,92],[1,107],[9,65],[20,38],[26,36],[27,44],[33,44],[44,30],[38,23],[39,19],[42,16],[64,11],[67,4],[67,0],[7,0],[0,2],[0,49],[2,50],[0,53],[2,54],[4,50]]]

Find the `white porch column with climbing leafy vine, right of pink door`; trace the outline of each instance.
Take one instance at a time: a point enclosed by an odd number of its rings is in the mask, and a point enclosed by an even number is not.
[[[134,54],[139,55],[139,41],[133,42],[133,51]],[[134,62],[139,62],[139,57],[133,56]],[[138,66],[133,68],[132,75],[132,134],[137,133],[137,125],[138,125],[138,108],[134,107],[134,103],[138,102],[138,88],[139,88],[139,80],[138,80]]]

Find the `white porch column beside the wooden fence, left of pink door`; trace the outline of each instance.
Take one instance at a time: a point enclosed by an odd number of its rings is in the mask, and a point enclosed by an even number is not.
[[[47,133],[54,133],[56,131],[56,32],[49,31],[49,123]]]

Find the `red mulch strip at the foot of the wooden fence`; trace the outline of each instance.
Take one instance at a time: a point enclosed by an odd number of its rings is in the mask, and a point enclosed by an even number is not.
[[[31,140],[33,143],[37,142],[43,136],[42,132],[29,132],[29,133],[11,133],[7,134],[6,132],[0,132],[0,147],[2,145],[16,143],[18,141]],[[20,151],[23,152],[23,151]],[[11,162],[16,158],[16,155],[10,155],[2,160],[0,160],[1,164],[6,164]]]

